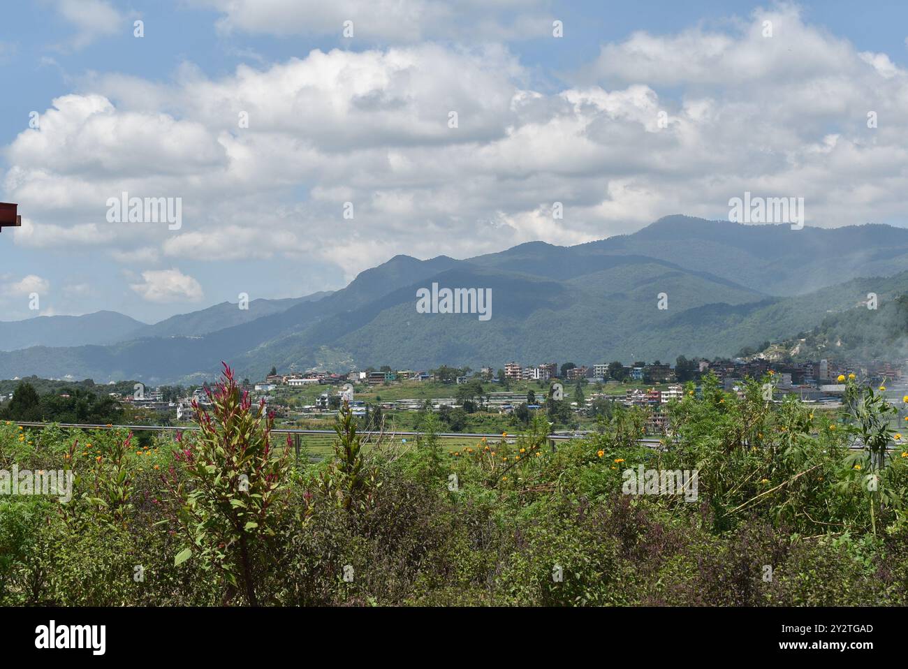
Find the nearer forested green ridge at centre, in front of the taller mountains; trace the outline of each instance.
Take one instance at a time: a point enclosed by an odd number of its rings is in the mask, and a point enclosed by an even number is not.
[[[472,314],[417,313],[415,296],[420,286],[414,284],[386,296],[380,305],[346,314],[342,322],[335,317],[305,333],[271,342],[248,357],[251,369],[261,368],[269,359],[287,363],[301,351],[308,354],[295,361],[311,364],[318,344],[328,342],[341,358],[354,359],[360,366],[426,368],[440,362],[476,366],[500,364],[503,357],[557,355],[589,360],[624,345],[633,339],[633,332],[659,327],[672,309],[702,305],[703,296],[733,303],[761,298],[652,260],[571,281],[469,267],[443,272],[429,281],[438,281],[439,286],[490,288],[491,320],[480,321]],[[669,295],[669,310],[657,308],[662,291]]]

